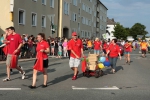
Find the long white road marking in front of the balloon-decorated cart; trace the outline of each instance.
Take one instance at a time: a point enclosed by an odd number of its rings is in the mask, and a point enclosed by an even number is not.
[[[103,88],[81,88],[81,87],[75,87],[72,86],[73,90],[120,90],[118,87],[116,86],[112,86],[112,87],[103,87]]]

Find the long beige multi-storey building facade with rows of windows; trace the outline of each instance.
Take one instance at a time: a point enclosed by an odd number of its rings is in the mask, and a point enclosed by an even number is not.
[[[99,0],[1,0],[0,33],[14,26],[20,34],[52,37],[100,37],[106,32],[107,8]]]

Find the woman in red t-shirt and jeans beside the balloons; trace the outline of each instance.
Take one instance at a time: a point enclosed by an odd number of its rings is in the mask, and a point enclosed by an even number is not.
[[[109,54],[109,61],[111,63],[113,73],[115,73],[118,55],[119,55],[120,60],[121,60],[119,46],[116,43],[117,43],[117,39],[113,39],[112,44],[109,45],[108,51],[107,51],[107,54],[106,54],[106,56],[108,56],[108,54]]]

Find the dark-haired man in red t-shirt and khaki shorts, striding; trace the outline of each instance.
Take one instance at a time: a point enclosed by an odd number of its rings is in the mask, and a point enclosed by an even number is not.
[[[7,59],[6,59],[6,65],[7,65],[7,78],[3,79],[3,81],[10,81],[10,68],[11,68],[11,60],[12,55],[17,55],[17,61],[18,62],[18,56],[20,49],[22,47],[22,39],[19,34],[15,32],[14,27],[9,27],[8,32],[10,35],[6,36],[8,45],[8,51],[7,51]],[[25,72],[17,65],[16,69],[22,73],[22,79],[25,78]]]

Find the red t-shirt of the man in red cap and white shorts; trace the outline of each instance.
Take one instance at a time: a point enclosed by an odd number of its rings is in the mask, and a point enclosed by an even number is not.
[[[75,52],[75,54],[81,57],[81,49],[83,48],[82,41],[80,39],[70,40],[69,42],[70,49]],[[76,58],[76,56],[71,52],[70,57]]]

